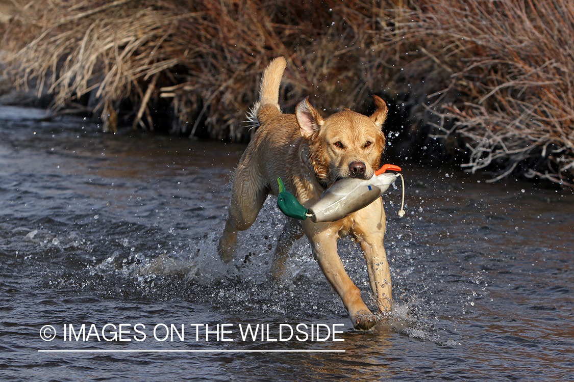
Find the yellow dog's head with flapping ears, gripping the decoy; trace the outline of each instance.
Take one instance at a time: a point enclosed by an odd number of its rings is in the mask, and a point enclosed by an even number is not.
[[[341,178],[370,179],[385,149],[382,125],[385,101],[374,96],[377,111],[370,117],[348,109],[323,119],[308,99],[295,112],[301,135],[309,140],[310,159],[317,178],[331,184]]]

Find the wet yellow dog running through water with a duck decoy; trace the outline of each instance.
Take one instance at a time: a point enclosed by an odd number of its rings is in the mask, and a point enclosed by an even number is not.
[[[279,106],[279,86],[285,66],[283,57],[267,66],[259,101],[251,111],[259,128],[233,178],[229,215],[219,241],[219,254],[226,262],[234,253],[238,231],[253,224],[268,194],[278,195],[277,178],[308,208],[338,179],[371,178],[385,148],[382,125],[387,107],[377,96],[374,96],[377,110],[369,117],[346,109],[323,119],[308,98],[297,105],[294,115],[283,114]],[[337,253],[337,241],[351,235],[360,243],[378,308],[388,312],[392,297],[389,264],[383,247],[385,226],[381,198],[336,222],[313,223],[310,219],[300,222],[289,218],[277,246],[274,272],[281,274],[293,241],[302,234],[307,235],[313,256],[343,300],[354,327],[369,330],[377,318],[344,270]]]

